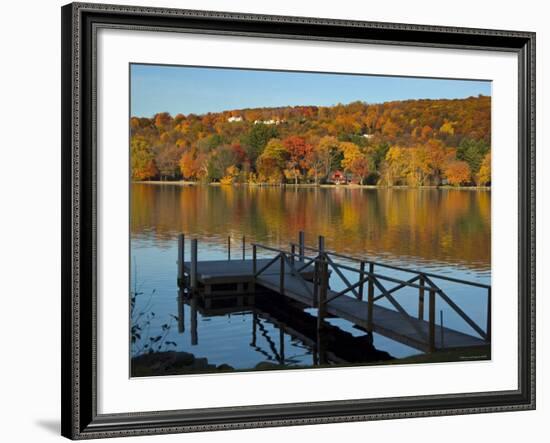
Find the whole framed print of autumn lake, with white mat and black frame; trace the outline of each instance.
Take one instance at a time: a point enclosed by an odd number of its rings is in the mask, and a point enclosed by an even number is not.
[[[535,407],[535,35],[62,8],[62,433]]]

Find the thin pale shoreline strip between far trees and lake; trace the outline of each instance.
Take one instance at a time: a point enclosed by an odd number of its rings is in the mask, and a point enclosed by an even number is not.
[[[224,186],[224,187],[240,187],[240,186],[250,186],[258,188],[326,188],[326,189],[454,189],[461,191],[490,191],[490,186],[407,186],[407,185],[396,185],[396,186],[381,186],[381,185],[358,185],[358,184],[346,184],[346,185],[336,185],[336,184],[319,184],[314,183],[285,183],[281,185],[273,185],[270,183],[232,183],[228,185],[222,185],[221,183],[200,183],[186,180],[143,180],[143,181],[130,181],[131,184],[145,184],[145,185],[172,185],[172,186]]]

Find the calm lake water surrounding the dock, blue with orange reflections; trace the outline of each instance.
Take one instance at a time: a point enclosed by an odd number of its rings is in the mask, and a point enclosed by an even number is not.
[[[231,236],[232,254],[238,259],[243,236],[248,244],[286,249],[304,230],[311,245],[324,235],[329,250],[490,284],[490,208],[489,191],[133,184],[132,287],[139,293],[135,313],[154,312],[147,335],[163,336],[163,343],[170,342],[165,349],[237,370],[266,362],[317,365],[317,348],[325,345],[334,351],[329,353],[329,364],[418,354],[378,334],[367,343],[363,331],[340,319],[329,320],[330,337],[323,342],[309,326],[315,310],[303,312],[262,298],[241,307],[228,301],[217,316],[196,313],[192,300],[178,302],[176,236],[183,232],[199,239],[199,260],[227,258]],[[189,257],[189,245],[186,254]],[[246,254],[250,257],[249,247]],[[387,275],[406,276],[395,271]],[[485,328],[483,289],[437,283]],[[331,287],[343,284],[331,278]],[[397,293],[410,313],[417,309],[413,293],[417,290]],[[444,303],[437,305],[437,313],[438,323],[443,317],[445,326],[471,333]],[[134,350],[138,347],[139,343]]]

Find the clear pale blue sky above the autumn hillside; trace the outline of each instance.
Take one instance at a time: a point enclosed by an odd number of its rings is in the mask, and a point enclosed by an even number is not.
[[[490,95],[490,81],[132,64],[131,115]]]

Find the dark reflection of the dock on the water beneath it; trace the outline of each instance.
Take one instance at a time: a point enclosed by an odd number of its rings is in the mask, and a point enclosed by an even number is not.
[[[317,317],[303,310],[303,305],[287,301],[278,294],[266,293],[256,296],[220,296],[205,299],[197,294],[185,294],[180,291],[178,297],[179,331],[184,332],[183,304],[190,307],[191,343],[197,345],[197,314],[202,318],[223,317],[227,315],[251,315],[252,329],[250,346],[264,355],[267,361],[278,365],[299,366],[292,356],[285,356],[285,335],[304,345],[311,352],[313,364],[354,364],[392,359],[390,354],[377,350],[370,334],[353,336],[325,323],[320,331]],[[266,323],[273,325],[278,332],[266,329]],[[267,348],[259,346],[258,338],[263,336]]]

